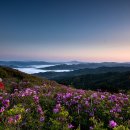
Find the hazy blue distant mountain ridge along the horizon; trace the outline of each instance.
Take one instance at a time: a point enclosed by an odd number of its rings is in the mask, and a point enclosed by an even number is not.
[[[27,66],[27,65],[49,65],[49,64],[54,64],[54,65],[68,65],[72,67],[72,65],[75,67],[78,65],[79,66],[85,66],[86,68],[98,68],[101,66],[106,66],[106,67],[117,67],[117,66],[125,66],[125,67],[130,67],[130,62],[124,62],[124,63],[118,63],[118,62],[80,62],[80,61],[69,61],[69,62],[46,62],[46,61],[0,61],[0,65],[6,65],[6,66]],[[46,68],[47,69],[47,68]],[[79,67],[77,68],[79,69]]]

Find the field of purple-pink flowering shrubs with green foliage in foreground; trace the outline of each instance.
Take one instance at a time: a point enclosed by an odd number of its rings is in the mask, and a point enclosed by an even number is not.
[[[130,95],[53,84],[1,92],[0,130],[5,129],[129,130]]]

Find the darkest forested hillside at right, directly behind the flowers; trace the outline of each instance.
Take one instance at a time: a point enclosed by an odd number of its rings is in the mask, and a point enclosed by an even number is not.
[[[61,77],[56,79],[56,81],[61,84],[86,90],[101,89],[109,92],[128,91],[130,90],[130,71]]]

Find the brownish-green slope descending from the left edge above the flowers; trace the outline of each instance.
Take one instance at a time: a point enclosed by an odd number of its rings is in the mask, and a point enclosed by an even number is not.
[[[8,91],[12,91],[13,88],[19,87],[21,81],[25,83],[23,84],[23,87],[43,85],[44,83],[53,84],[54,86],[58,85],[58,83],[56,83],[55,81],[49,81],[45,78],[40,78],[3,66],[0,66],[0,78],[3,79],[6,90]]]

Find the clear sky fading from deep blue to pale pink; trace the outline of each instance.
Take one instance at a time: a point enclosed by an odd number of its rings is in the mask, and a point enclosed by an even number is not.
[[[0,0],[0,60],[130,62],[130,0]]]

